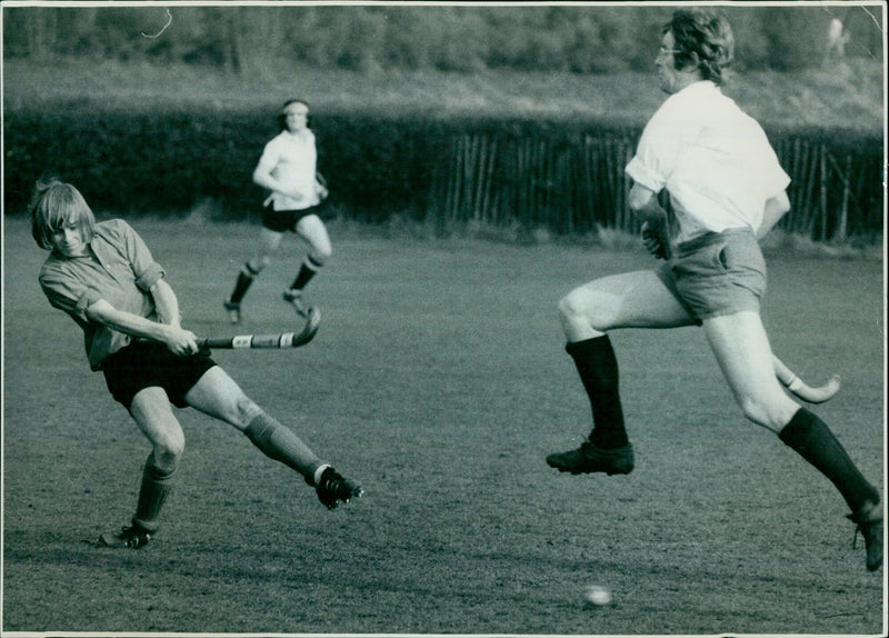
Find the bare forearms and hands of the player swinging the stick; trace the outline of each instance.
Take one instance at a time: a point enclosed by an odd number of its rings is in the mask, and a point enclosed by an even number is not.
[[[87,318],[119,332],[164,343],[174,355],[186,356],[198,351],[194,333],[179,326],[179,302],[172,288],[159,279],[151,295],[163,323],[151,321],[132,312],[118,310],[104,299],[87,308]]]

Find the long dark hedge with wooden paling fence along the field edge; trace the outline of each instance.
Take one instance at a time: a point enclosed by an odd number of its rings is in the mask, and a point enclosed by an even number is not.
[[[623,167],[638,124],[326,112],[312,129],[332,199],[358,220],[637,230]],[[6,211],[22,212],[34,180],[53,172],[98,211],[186,215],[210,200],[214,219],[257,219],[263,193],[250,175],[276,133],[254,112],[133,113],[86,103],[8,110]],[[882,231],[881,139],[770,134],[793,179],[785,228],[817,240]]]

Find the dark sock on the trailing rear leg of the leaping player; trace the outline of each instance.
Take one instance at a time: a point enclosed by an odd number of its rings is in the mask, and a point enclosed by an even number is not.
[[[827,425],[806,408],[800,408],[778,437],[816,467],[840,490],[852,512],[880,495],[858,471],[842,445]]]

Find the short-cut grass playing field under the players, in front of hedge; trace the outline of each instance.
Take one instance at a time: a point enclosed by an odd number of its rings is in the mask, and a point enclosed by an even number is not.
[[[221,300],[258,229],[134,220],[184,325],[228,335]],[[333,512],[246,437],[179,411],[187,450],[141,551],[81,542],[127,522],[148,447],[37,285],[43,252],[6,220],[3,632],[833,634],[887,630],[832,486],[747,423],[695,328],[613,341],[637,469],[569,477],[589,406],[556,302],[647,268],[611,251],[333,233],[310,287],[323,312],[293,351],[219,352],[257,401],[364,498]],[[246,303],[278,331],[294,243]],[[881,490],[882,262],[775,255],[765,318],[816,411]],[[588,584],[609,608],[588,608]]]

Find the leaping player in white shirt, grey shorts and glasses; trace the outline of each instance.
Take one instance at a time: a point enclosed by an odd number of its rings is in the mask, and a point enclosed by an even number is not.
[[[766,263],[758,240],[789,210],[790,178],[760,126],[720,90],[732,60],[721,12],[679,9],[662,32],[656,66],[670,97],[646,126],[626,172],[630,208],[653,271],[596,279],[559,302],[561,323],[592,407],[580,449],[547,462],[571,473],[626,475],[635,465],[608,332],[699,325],[745,417],[775,432],[836,486],[865,537],[866,565],[882,565],[880,495],[828,426],[778,382],[760,318]],[[672,215],[660,206],[667,190]]]

